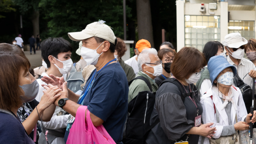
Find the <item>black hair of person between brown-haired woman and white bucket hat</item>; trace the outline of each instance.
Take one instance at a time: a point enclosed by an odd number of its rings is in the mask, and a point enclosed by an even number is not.
[[[218,41],[210,41],[205,44],[203,54],[206,58],[207,63],[211,57],[213,57],[213,56],[215,56],[215,54],[217,54],[217,52],[219,50],[219,46],[221,46],[224,50],[224,46]]]

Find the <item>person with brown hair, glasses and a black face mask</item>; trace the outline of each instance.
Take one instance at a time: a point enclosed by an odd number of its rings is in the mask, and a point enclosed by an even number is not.
[[[172,76],[170,68],[175,54],[177,53],[170,48],[163,48],[162,50],[158,51],[157,55],[162,61],[163,67],[163,73],[154,79],[158,87],[164,80]]]

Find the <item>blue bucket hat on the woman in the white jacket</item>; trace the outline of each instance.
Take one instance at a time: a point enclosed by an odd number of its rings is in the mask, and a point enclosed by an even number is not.
[[[230,67],[234,73],[234,76],[236,75],[236,67],[232,66],[224,56],[213,56],[208,61],[208,70],[210,73],[210,79],[213,81],[217,78],[217,76],[224,70],[225,68]]]

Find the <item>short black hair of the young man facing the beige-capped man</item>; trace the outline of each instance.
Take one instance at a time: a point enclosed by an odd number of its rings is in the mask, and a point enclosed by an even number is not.
[[[54,56],[58,58],[58,54],[62,52],[72,52],[72,46],[70,42],[64,38],[47,38],[41,43],[42,58],[50,68],[50,61],[48,56]]]

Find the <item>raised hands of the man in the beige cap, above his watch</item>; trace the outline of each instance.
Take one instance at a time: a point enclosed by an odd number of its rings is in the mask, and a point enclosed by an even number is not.
[[[56,95],[58,95],[58,97],[56,96],[55,101],[53,102],[53,104],[55,106],[58,106],[58,101],[61,98],[68,98],[68,88],[67,88],[67,82],[65,82],[64,77],[58,77],[58,76],[54,76],[53,74],[49,75],[50,77],[44,76],[43,78],[41,78],[42,81],[44,81],[46,84],[48,85],[44,85],[42,84],[42,86],[48,90],[49,88],[56,88],[58,87],[58,93],[56,93]]]

